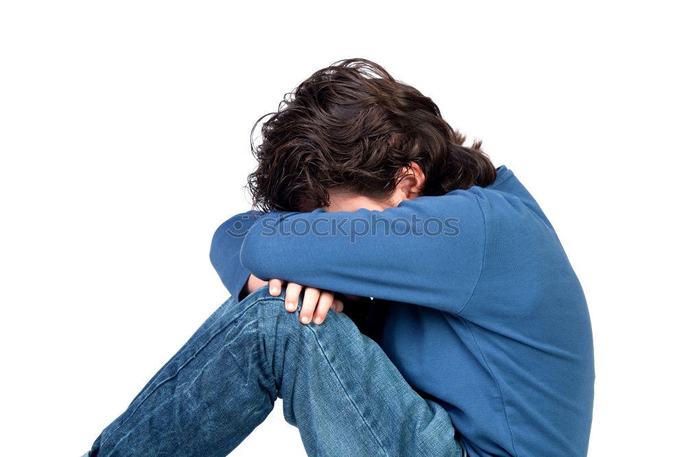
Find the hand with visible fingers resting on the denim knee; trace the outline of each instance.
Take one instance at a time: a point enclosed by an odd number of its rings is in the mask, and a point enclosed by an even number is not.
[[[272,296],[279,296],[285,282],[283,279],[270,279],[269,293]],[[285,306],[288,312],[294,312],[298,307],[298,297],[302,290],[303,286],[300,284],[288,283],[286,286]],[[320,325],[327,318],[329,308],[340,313],[343,311],[343,302],[338,298],[333,298],[333,292],[330,290],[305,287],[303,306],[300,308],[300,323],[309,324],[314,316],[314,323]]]

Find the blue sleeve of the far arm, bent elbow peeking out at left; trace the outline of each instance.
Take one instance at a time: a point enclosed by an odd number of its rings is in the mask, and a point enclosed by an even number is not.
[[[255,211],[258,217],[263,214]],[[250,272],[241,265],[239,254],[243,239],[255,222],[252,211],[239,213],[220,225],[212,237],[210,261],[228,292],[236,298],[250,276]]]

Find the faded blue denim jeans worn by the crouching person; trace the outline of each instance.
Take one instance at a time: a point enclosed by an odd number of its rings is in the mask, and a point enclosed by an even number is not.
[[[321,325],[264,286],[230,297],[84,456],[224,457],[283,399],[308,456],[466,456],[447,412],[351,318]]]

